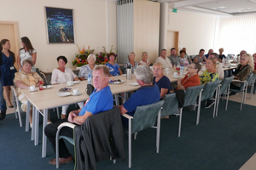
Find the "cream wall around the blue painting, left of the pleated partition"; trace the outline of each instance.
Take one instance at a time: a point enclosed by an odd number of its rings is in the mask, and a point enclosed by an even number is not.
[[[36,67],[55,68],[56,58],[65,55],[67,66],[72,66],[75,54],[79,53],[76,44],[48,44],[44,6],[73,8],[75,43],[82,48],[96,49],[102,46],[116,48],[116,2],[106,0],[0,0],[0,20],[18,21],[20,37],[29,37],[38,51]],[[108,7],[107,7],[108,4]],[[108,8],[108,30],[106,12]],[[108,32],[108,42],[107,42]],[[4,37],[0,37],[1,39]]]

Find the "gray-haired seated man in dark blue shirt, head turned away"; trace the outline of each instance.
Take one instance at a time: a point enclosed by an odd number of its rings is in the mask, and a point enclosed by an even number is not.
[[[131,98],[124,105],[118,105],[121,114],[126,113],[130,116],[134,115],[137,106],[150,105],[160,100],[160,90],[156,84],[153,85],[152,83],[153,71],[148,65],[137,66],[134,74],[141,88],[138,88],[136,93],[131,94]],[[128,121],[125,122],[125,125],[128,125]]]

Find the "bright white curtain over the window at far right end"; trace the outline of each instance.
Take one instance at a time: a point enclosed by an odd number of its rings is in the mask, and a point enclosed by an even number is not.
[[[256,53],[256,14],[220,19],[218,46],[224,54]]]

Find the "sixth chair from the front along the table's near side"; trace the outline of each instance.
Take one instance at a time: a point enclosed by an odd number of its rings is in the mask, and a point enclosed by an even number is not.
[[[230,92],[230,83],[233,81],[234,77],[227,77],[221,82],[221,86],[219,87],[218,90],[218,100],[217,100],[217,107],[216,107],[216,113],[215,116],[218,115],[218,104],[219,104],[219,99],[220,96],[223,94],[224,96],[227,97],[226,99],[226,107],[225,111],[228,109],[228,102],[229,102],[229,92]],[[224,98],[224,97],[223,97]]]

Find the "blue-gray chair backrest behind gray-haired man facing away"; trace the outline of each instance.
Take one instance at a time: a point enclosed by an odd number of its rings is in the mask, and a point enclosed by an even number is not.
[[[164,100],[160,100],[154,104],[137,106],[131,123],[131,133],[154,126],[156,116],[164,103]]]

